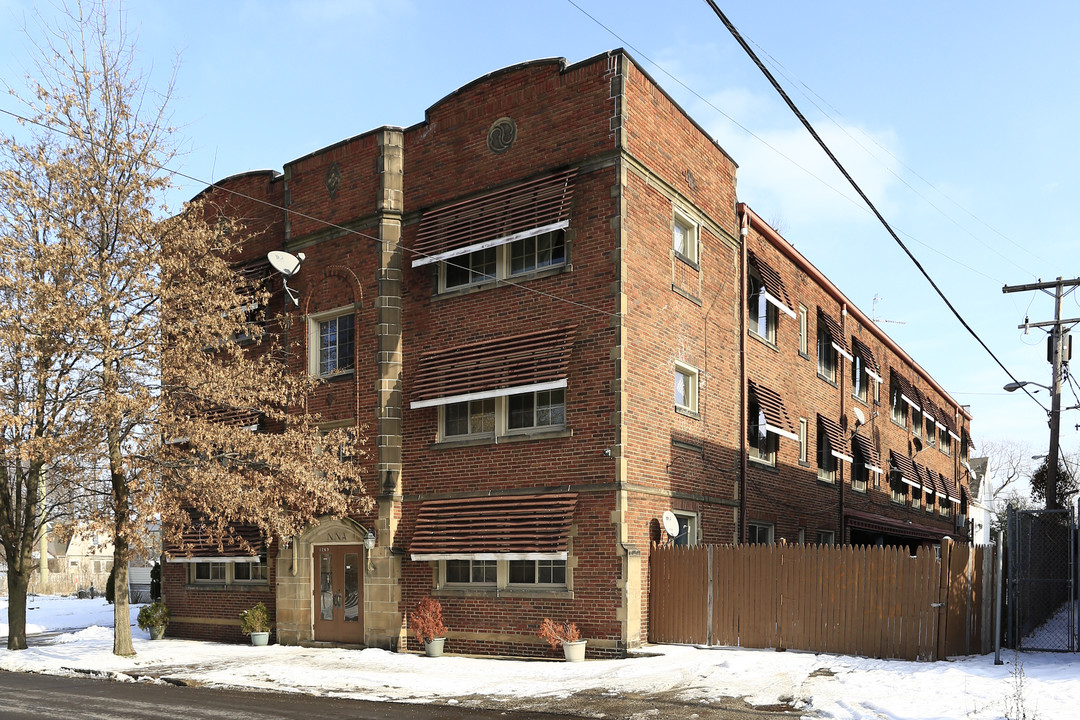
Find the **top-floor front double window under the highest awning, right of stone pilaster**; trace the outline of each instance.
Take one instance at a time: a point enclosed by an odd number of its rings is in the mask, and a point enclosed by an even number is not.
[[[440,291],[515,277],[566,263],[566,234],[553,230],[438,263]]]

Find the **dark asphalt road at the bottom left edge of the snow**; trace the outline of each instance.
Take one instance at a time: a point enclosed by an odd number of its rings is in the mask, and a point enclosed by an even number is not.
[[[35,720],[552,720],[546,712],[116,682],[0,671],[0,718]]]

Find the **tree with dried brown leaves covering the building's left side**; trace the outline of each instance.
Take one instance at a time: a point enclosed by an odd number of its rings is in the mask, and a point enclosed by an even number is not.
[[[42,468],[56,478],[46,497],[63,488],[100,500],[79,505],[73,520],[112,538],[113,652],[130,655],[127,562],[149,526],[179,540],[194,515],[219,543],[235,524],[272,540],[322,515],[366,512],[370,500],[361,429],[320,432],[307,407],[316,381],[288,371],[287,334],[272,318],[252,325],[266,290],[232,264],[242,232],[208,222],[213,208],[200,204],[167,217],[171,89],[156,93],[135,71],[114,17],[80,4],[44,29],[37,76],[18,96],[28,138],[3,138],[4,240],[39,260],[5,263],[0,291],[26,293],[41,320],[29,327],[17,312],[0,316],[10,326],[0,328],[0,350],[33,351],[21,359],[26,379],[5,388],[0,421],[52,418],[49,441],[29,433],[16,446],[4,436],[9,470],[12,458],[30,468],[18,485],[23,514],[12,515],[22,527],[27,503],[42,505]],[[27,393],[30,380],[52,395]],[[45,410],[28,410],[35,403]],[[276,432],[237,422],[251,418]]]

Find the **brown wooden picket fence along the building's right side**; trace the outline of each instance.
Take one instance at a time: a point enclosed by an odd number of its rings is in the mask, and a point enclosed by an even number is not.
[[[649,641],[932,661],[993,650],[994,548],[653,547]]]

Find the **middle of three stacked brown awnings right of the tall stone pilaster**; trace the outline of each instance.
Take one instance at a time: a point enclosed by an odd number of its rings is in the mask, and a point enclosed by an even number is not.
[[[413,409],[566,388],[569,325],[470,342],[420,355]]]

